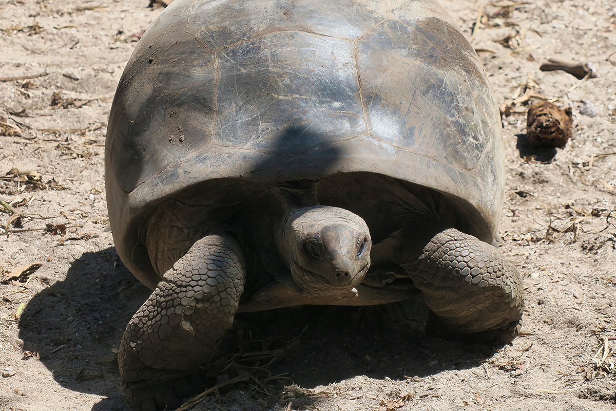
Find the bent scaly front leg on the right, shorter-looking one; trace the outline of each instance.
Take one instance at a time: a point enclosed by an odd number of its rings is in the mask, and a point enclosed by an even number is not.
[[[413,261],[406,259],[403,267],[437,316],[426,331],[481,332],[481,340],[501,344],[516,338],[524,298],[511,262],[495,247],[438,223],[404,231]],[[424,233],[423,240],[416,238],[418,233]]]

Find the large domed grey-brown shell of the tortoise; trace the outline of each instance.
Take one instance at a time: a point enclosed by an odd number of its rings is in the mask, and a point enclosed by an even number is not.
[[[445,193],[493,238],[501,125],[472,47],[431,0],[176,0],[111,108],[105,182],[118,254],[158,281],[139,229],[212,179],[378,173]]]

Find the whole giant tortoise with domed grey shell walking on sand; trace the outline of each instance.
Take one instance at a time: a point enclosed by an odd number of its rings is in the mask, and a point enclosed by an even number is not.
[[[498,110],[432,0],[172,2],[118,85],[105,182],[154,290],[119,354],[141,409],[177,404],[237,312],[421,293],[434,332],[519,331],[521,279],[489,244]]]

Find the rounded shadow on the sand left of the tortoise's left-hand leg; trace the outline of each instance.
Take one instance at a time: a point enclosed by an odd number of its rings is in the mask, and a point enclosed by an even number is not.
[[[119,262],[114,247],[83,253],[65,280],[33,296],[18,323],[23,349],[38,353],[63,387],[107,396],[105,410],[126,409],[113,351],[150,295]]]

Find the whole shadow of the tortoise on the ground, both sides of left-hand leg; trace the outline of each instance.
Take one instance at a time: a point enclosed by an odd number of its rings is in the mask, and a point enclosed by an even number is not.
[[[71,263],[65,280],[30,300],[19,323],[23,349],[38,352],[55,381],[106,397],[92,410],[129,407],[120,392],[114,351],[129,319],[150,295],[118,262],[113,247],[84,253]],[[288,376],[277,389],[291,383],[314,388],[358,375],[402,380],[475,367],[492,356],[490,346],[426,335],[427,318],[421,299],[371,307],[303,306],[238,314],[226,338],[249,335],[256,346],[269,338],[274,342],[268,349],[285,349],[296,341],[272,367],[273,374]],[[231,345],[231,354],[239,354],[237,344]]]

